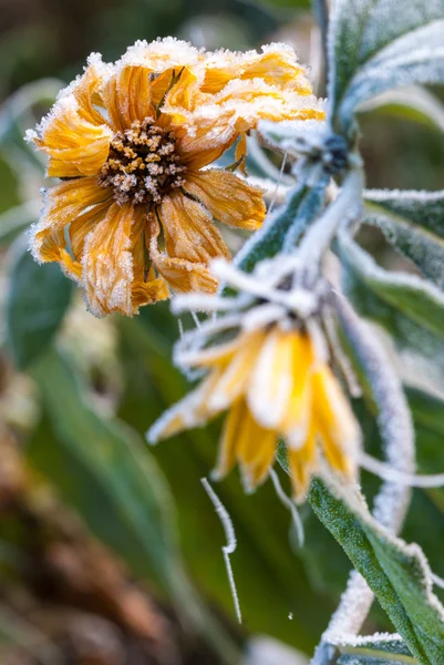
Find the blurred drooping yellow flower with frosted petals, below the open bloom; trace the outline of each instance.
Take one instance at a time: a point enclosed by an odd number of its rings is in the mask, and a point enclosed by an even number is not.
[[[355,479],[360,430],[350,405],[308,330],[293,325],[244,330],[234,340],[188,351],[182,364],[208,370],[202,383],[148,432],[149,441],[205,423],[229,409],[216,469],[238,461],[246,485],[262,482],[283,439],[295,498],[303,499],[320,454]]]

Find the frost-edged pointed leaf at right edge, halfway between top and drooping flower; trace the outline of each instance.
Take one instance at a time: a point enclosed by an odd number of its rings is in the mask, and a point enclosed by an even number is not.
[[[444,192],[370,190],[365,202],[365,221],[444,288]]]

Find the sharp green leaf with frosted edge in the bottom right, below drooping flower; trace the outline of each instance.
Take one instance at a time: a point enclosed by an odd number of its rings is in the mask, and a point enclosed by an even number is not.
[[[422,665],[444,663],[444,608],[431,591],[430,570],[417,545],[390,536],[358,501],[314,479],[309,501],[365,579]]]

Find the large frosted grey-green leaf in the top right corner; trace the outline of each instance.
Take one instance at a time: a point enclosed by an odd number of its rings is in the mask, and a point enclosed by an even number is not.
[[[337,0],[330,28],[330,86],[337,131],[358,104],[382,92],[444,79],[444,1]]]

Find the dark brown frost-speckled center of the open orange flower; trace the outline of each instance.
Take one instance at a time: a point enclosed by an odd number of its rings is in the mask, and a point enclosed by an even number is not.
[[[114,188],[117,203],[161,203],[171,190],[183,185],[185,171],[174,132],[145,117],[114,134],[99,183]]]

